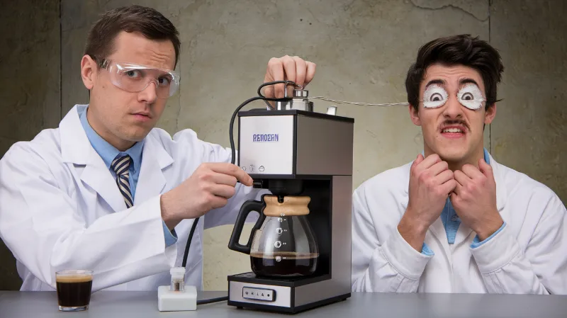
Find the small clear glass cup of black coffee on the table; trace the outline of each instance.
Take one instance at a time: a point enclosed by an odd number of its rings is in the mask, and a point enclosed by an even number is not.
[[[60,311],[79,312],[89,309],[93,271],[58,271],[55,273],[55,282]]]

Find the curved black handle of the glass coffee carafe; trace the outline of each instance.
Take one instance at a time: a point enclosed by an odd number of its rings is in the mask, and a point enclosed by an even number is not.
[[[228,242],[229,249],[232,249],[232,251],[240,251],[240,253],[244,254],[250,254],[254,234],[256,233],[257,229],[260,229],[260,227],[262,227],[262,223],[264,222],[264,220],[266,220],[266,215],[262,213],[262,210],[265,206],[266,205],[263,202],[256,200],[248,200],[244,204],[242,204],[240,212],[238,212],[238,217],[236,218],[235,227],[234,229],[232,229],[232,235],[230,235],[230,241]],[[238,241],[240,239],[240,235],[242,234],[242,228],[244,227],[246,218],[252,211],[258,212],[260,216],[258,217],[256,224],[252,228],[252,233],[250,233],[248,243],[246,245],[242,245],[238,243]]]

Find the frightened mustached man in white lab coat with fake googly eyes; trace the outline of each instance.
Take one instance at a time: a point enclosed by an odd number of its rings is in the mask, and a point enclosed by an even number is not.
[[[567,293],[565,206],[483,147],[502,72],[469,35],[420,48],[405,85],[424,153],[354,191],[352,290]]]

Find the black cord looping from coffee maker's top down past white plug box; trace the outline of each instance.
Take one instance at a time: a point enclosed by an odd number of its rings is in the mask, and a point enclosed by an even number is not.
[[[267,103],[267,101],[289,101],[289,100],[291,100],[291,98],[267,98],[264,95],[262,95],[261,90],[264,86],[275,85],[275,84],[286,84],[286,86],[288,84],[296,85],[293,81],[269,81],[269,82],[266,82],[266,83],[264,83],[264,84],[262,84],[258,87],[258,91],[257,91],[258,96],[248,98],[244,103],[240,104],[240,106],[238,106],[235,109],[234,113],[232,113],[232,117],[230,118],[230,125],[229,125],[230,128],[228,130],[228,135],[230,137],[230,149],[232,150],[232,157],[230,159],[230,162],[232,164],[235,164],[235,159],[236,159],[235,140],[234,140],[234,134],[233,134],[232,130],[234,130],[234,124],[235,124],[236,116],[238,115],[238,112],[242,109],[242,107],[246,106],[248,103],[252,103],[252,101],[258,101],[258,100],[266,101],[266,103]],[[269,105],[269,103],[268,103],[268,106],[271,109],[274,109],[273,107],[271,107],[271,105]],[[191,241],[193,240],[193,234],[195,234],[195,230],[197,228],[198,222],[199,222],[199,218],[197,217],[195,219],[195,221],[193,222],[193,225],[191,226],[191,231],[189,231],[189,237],[187,237],[187,244],[185,245],[185,252],[183,254],[183,262],[181,263],[182,267],[186,267],[186,265],[187,265],[187,257],[189,256],[189,247],[191,246]],[[208,299],[208,300],[198,300],[197,305],[210,304],[212,302],[222,302],[222,301],[225,301],[225,300],[228,300],[228,296],[211,298],[211,299]]]

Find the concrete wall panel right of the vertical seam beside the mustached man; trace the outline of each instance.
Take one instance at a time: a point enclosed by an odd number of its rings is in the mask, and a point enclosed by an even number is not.
[[[567,2],[493,1],[490,40],[505,62],[495,158],[567,203]]]

